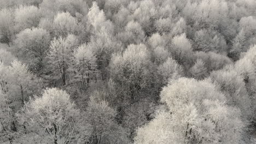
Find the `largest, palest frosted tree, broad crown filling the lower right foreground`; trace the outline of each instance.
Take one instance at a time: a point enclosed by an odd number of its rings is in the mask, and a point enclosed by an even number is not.
[[[241,113],[208,80],[182,78],[161,92],[167,106],[137,130],[135,143],[239,143],[245,123]],[[201,103],[198,103],[198,102]]]

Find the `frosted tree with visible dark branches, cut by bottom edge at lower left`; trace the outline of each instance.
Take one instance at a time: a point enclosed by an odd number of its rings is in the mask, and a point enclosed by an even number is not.
[[[47,88],[42,97],[31,99],[17,114],[19,122],[49,143],[75,143],[83,129],[79,123],[79,110],[70,95],[57,88]],[[81,133],[82,134],[82,133]]]

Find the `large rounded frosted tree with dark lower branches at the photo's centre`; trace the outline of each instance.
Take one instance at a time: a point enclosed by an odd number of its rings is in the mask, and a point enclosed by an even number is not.
[[[137,100],[139,93],[150,87],[150,57],[143,44],[129,45],[123,55],[113,55],[110,63],[111,78],[119,83],[127,100]],[[130,97],[130,98],[129,98]]]

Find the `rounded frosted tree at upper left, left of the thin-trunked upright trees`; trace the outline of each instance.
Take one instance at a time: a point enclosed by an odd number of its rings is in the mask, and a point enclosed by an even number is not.
[[[42,28],[25,29],[15,40],[19,58],[35,71],[43,68],[49,43],[50,34]]]

